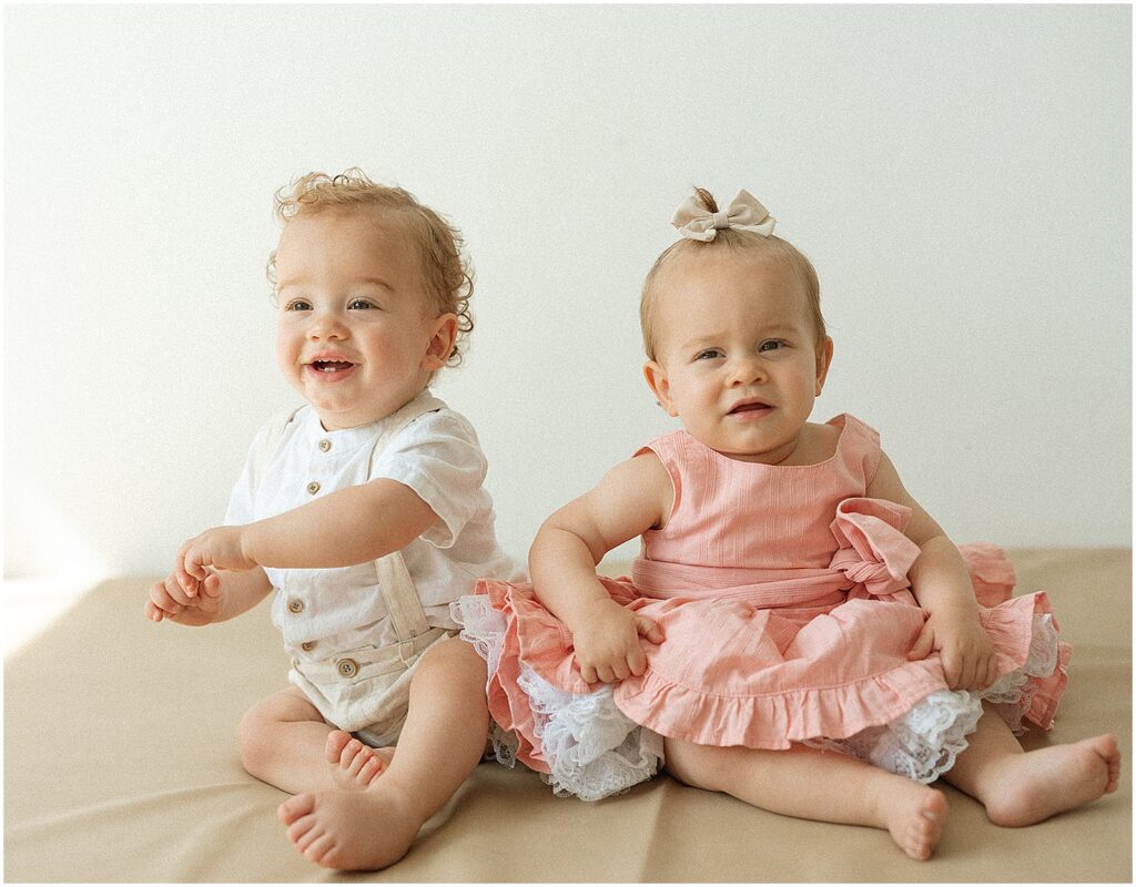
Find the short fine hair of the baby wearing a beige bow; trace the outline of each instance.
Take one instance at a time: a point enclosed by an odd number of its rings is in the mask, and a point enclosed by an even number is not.
[[[704,187],[695,187],[694,194],[708,212],[718,212],[718,201],[709,191]],[[788,241],[776,235],[763,237],[749,231],[724,228],[717,232],[712,241],[694,241],[683,237],[670,244],[659,254],[654,265],[651,266],[651,270],[648,271],[646,279],[643,281],[643,294],[640,299],[640,326],[643,330],[643,350],[646,351],[649,360],[655,359],[655,346],[658,345],[654,334],[654,313],[659,288],[658,281],[662,269],[677,256],[699,254],[704,250],[733,252],[744,250],[754,257],[766,258],[792,268],[804,286],[809,313],[817,330],[817,344],[825,341],[828,333],[825,328],[825,318],[820,313],[820,281],[817,277],[816,268],[812,267],[812,262],[805,254]]]

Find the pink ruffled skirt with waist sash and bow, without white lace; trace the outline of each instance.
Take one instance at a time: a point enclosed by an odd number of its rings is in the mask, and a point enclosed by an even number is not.
[[[646,645],[645,673],[615,685],[616,708],[666,737],[786,748],[887,725],[945,691],[937,653],[907,659],[926,617],[908,587],[919,551],[902,533],[907,518],[907,509],[889,502],[844,500],[832,522],[836,551],[825,570],[640,560],[633,577],[601,578],[612,600],[654,620],[666,638]],[[997,546],[966,545],[960,552],[1004,678],[1000,711],[1014,728],[1025,719],[1049,729],[1070,654],[1049,597],[1011,597],[1013,567]],[[570,633],[531,585],[487,579],[476,593],[504,625],[487,684],[490,713],[515,735],[516,758],[548,773],[520,686],[523,668],[566,693],[586,695],[596,687],[580,677]]]

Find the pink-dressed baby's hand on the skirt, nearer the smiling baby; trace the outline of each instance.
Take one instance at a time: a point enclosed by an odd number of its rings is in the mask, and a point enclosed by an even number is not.
[[[573,629],[576,662],[588,684],[613,680],[646,671],[646,654],[640,637],[662,643],[662,630],[648,619],[625,610],[611,599],[599,600]]]

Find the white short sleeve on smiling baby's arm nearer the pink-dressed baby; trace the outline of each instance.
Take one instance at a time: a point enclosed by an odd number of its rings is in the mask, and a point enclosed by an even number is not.
[[[454,544],[469,519],[485,507],[488,466],[473,426],[452,410],[419,416],[387,444],[370,474],[410,487],[437,521],[421,538],[438,549]]]

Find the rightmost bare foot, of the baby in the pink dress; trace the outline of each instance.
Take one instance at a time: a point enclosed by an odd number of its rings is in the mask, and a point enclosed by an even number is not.
[[[1002,768],[986,815],[997,826],[1033,826],[1117,790],[1120,750],[1111,734],[1016,754]]]

